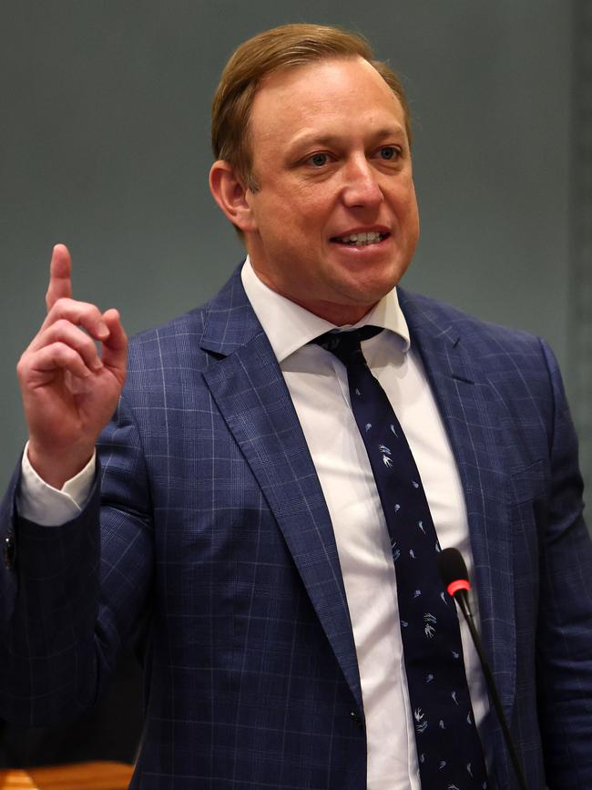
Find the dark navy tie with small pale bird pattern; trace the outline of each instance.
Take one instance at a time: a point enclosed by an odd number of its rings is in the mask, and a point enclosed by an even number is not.
[[[464,672],[454,601],[436,566],[440,545],[407,439],[362,354],[373,326],[313,342],[347,370],[352,412],[391,538],[407,686],[424,790],[483,790],[485,761]]]

